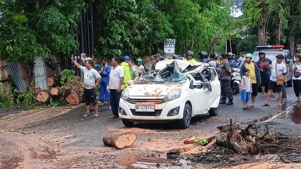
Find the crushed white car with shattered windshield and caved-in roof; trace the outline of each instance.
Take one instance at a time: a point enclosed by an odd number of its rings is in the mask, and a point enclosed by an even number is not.
[[[177,121],[188,128],[193,116],[218,114],[220,81],[209,64],[164,60],[156,70],[123,90],[119,117],[124,125]]]

